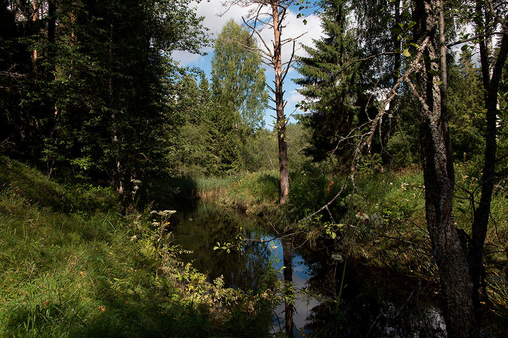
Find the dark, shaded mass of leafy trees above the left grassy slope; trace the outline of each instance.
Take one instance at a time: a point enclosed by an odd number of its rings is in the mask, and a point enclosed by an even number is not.
[[[165,91],[178,71],[169,55],[198,52],[202,18],[189,0],[49,4],[36,16],[31,6],[0,8],[1,39],[14,48],[0,53],[4,149],[122,197],[131,179],[167,167],[167,134],[181,115]]]

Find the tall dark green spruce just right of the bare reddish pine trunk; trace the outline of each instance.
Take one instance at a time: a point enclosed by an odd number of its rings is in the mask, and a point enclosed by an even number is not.
[[[337,149],[340,139],[357,126],[364,107],[358,107],[360,63],[345,67],[358,57],[355,35],[348,29],[348,8],[340,1],[321,3],[325,37],[314,40],[314,48],[303,46],[308,57],[299,58],[297,70],[303,78],[294,80],[306,97],[301,109],[308,114],[300,121],[311,132],[308,155],[324,160],[331,152],[343,157],[346,148]],[[361,93],[360,93],[361,94]]]

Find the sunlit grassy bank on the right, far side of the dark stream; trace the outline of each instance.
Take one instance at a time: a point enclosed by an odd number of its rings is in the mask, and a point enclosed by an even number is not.
[[[471,201],[479,201],[479,177],[475,168],[456,166],[457,192],[454,199],[456,224],[465,233],[472,223]],[[250,173],[227,179],[197,180],[199,195],[235,206],[246,213],[268,213],[270,221],[281,228],[292,227],[296,220],[319,209],[341,189],[345,177],[293,172],[290,199],[277,207],[277,172]],[[356,188],[349,187],[329,206],[299,227],[303,240],[322,241],[340,254],[349,254],[372,267],[383,267],[416,280],[437,282],[432,248],[425,220],[424,183],[420,168],[397,172],[366,167],[357,175]],[[470,195],[468,195],[470,193]],[[498,312],[508,305],[506,286],[508,242],[508,188],[495,187],[490,226],[486,238],[484,262],[487,292]],[[333,217],[333,218],[332,218]],[[337,226],[337,224],[339,224]],[[342,224],[349,224],[344,226]],[[324,242],[323,242],[324,241]]]

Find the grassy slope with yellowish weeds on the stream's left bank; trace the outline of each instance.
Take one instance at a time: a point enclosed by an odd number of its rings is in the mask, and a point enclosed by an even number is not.
[[[1,157],[0,336],[263,335],[271,291],[207,282],[178,260],[170,222]]]

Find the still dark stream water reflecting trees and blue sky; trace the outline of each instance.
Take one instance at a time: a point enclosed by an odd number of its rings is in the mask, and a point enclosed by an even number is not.
[[[282,268],[281,241],[273,239],[270,227],[256,217],[212,203],[199,204],[173,217],[175,242],[194,251],[182,259],[193,261],[209,280],[223,276],[228,287],[256,290],[270,267],[275,271]],[[216,242],[234,242],[240,228],[245,237],[264,241],[248,243],[230,253],[213,250]],[[303,246],[292,250],[293,271],[289,278],[295,289],[290,329],[293,336],[446,336],[429,287],[387,271],[366,268],[353,259],[344,270],[344,263],[332,258],[331,252],[330,248],[314,250]],[[342,271],[345,278],[338,302]],[[278,274],[278,278],[283,279],[283,274]],[[274,333],[285,330],[287,309],[284,304],[275,309]]]

